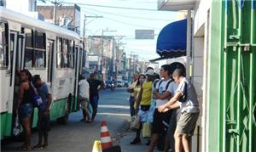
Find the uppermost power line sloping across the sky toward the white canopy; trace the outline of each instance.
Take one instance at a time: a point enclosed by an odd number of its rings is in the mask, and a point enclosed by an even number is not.
[[[118,7],[118,6],[110,6],[110,5],[96,5],[96,4],[89,4],[89,3],[68,3],[68,2],[61,2],[67,4],[77,4],[77,5],[84,5],[84,6],[93,6],[93,7],[100,7],[100,8],[118,8],[118,9],[131,9],[131,10],[142,10],[142,11],[159,11],[157,9],[148,9],[148,8],[126,8],[126,7]]]

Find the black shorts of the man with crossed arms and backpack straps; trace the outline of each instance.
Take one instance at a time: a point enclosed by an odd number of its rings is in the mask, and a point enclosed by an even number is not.
[[[165,113],[160,113],[157,109],[154,110],[154,120],[152,124],[152,133],[165,134],[169,127],[172,110]]]

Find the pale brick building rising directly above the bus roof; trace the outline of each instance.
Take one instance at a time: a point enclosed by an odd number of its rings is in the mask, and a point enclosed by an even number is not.
[[[73,6],[57,6],[56,15],[54,6],[38,6],[38,13],[44,15],[44,20],[49,23],[56,23],[61,27],[66,27],[69,30],[76,31],[80,34],[80,7]],[[55,20],[54,20],[54,15]]]

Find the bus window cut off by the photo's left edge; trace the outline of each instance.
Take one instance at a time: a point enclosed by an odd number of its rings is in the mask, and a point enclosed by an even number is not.
[[[8,66],[7,24],[0,22],[0,68]]]

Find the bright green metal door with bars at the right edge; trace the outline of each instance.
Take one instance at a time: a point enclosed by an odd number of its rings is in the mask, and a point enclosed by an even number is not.
[[[223,5],[222,151],[256,151],[255,4],[226,0]]]

